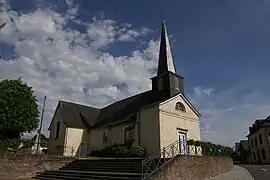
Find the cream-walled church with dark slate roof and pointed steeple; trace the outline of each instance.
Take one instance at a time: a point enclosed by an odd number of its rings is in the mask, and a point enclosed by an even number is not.
[[[152,89],[103,108],[59,101],[49,126],[48,153],[85,156],[127,141],[147,156],[180,140],[201,140],[199,117],[176,73],[165,22],[162,22],[158,69]]]

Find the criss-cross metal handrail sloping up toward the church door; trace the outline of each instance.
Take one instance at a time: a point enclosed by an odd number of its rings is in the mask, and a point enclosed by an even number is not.
[[[181,142],[179,140],[169,144],[168,146],[164,147],[158,153],[144,159],[142,161],[142,176],[141,179],[145,180],[149,178],[152,174],[162,168],[165,164],[170,162],[174,157],[176,157],[181,152]],[[176,152],[174,153],[174,150]],[[163,157],[162,157],[163,155]],[[165,157],[164,157],[165,156]],[[157,162],[156,162],[157,161]],[[152,169],[151,166],[154,166]],[[145,169],[146,167],[146,169]],[[146,172],[145,172],[146,170]]]

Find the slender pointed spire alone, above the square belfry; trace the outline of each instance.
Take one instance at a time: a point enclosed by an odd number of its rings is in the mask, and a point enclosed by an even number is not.
[[[168,71],[175,73],[175,68],[169,38],[166,30],[166,24],[165,21],[162,21],[157,76]]]

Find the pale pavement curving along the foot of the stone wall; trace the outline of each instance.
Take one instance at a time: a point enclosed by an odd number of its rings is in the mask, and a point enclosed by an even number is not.
[[[250,175],[247,169],[240,166],[234,166],[234,168],[231,171],[216,177],[209,178],[207,180],[254,180],[254,178]]]

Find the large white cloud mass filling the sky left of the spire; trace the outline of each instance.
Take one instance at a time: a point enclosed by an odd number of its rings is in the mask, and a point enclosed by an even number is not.
[[[46,133],[58,100],[104,106],[149,89],[151,70],[157,65],[158,42],[153,40],[130,56],[100,51],[116,42],[134,41],[150,30],[104,17],[82,23],[86,33],[66,29],[69,20],[80,22],[75,18],[79,7],[70,0],[66,3],[69,8],[62,14],[50,9],[20,14],[7,3],[0,14],[0,21],[7,23],[0,43],[12,45],[17,54],[15,59],[0,59],[0,80],[22,76],[34,88],[39,108],[47,95]],[[124,84],[124,90],[117,84]]]

